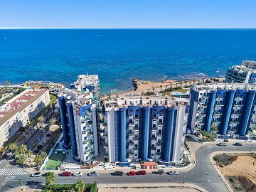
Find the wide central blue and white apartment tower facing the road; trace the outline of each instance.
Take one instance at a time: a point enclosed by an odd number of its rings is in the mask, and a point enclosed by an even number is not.
[[[183,154],[188,100],[124,97],[105,101],[105,151],[110,164],[158,161],[169,166]]]

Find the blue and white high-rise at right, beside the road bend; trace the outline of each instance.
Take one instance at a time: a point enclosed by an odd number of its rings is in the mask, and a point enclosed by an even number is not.
[[[196,85],[190,91],[188,129],[210,132],[218,128],[218,134],[245,137],[256,130],[256,85],[206,84]]]

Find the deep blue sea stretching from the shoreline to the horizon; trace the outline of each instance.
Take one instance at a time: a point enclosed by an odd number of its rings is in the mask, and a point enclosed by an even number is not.
[[[132,89],[132,78],[219,77],[246,59],[256,60],[256,29],[0,30],[0,84],[89,73],[106,93]]]

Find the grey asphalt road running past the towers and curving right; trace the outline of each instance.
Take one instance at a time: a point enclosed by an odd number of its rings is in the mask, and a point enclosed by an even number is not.
[[[155,174],[146,174],[146,176],[112,176],[109,172],[100,173],[100,176],[89,177],[84,174],[82,177],[61,177],[56,174],[55,183],[75,183],[78,179],[85,181],[85,183],[193,183],[207,191],[228,191],[218,173],[209,161],[209,155],[214,151],[256,151],[256,144],[246,143],[243,146],[216,146],[215,144],[206,144],[201,146],[196,151],[196,165],[190,171],[178,171],[178,176],[169,176],[163,174],[161,176]],[[125,171],[124,171],[125,172]],[[6,181],[1,182],[0,191],[9,191],[11,188],[21,186],[18,183],[18,178],[23,179],[23,184],[28,186],[44,185],[45,179],[30,178],[28,175],[21,175],[15,177],[5,178]],[[2,184],[4,186],[2,186]]]

